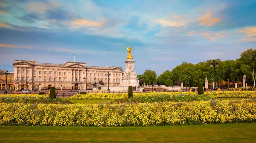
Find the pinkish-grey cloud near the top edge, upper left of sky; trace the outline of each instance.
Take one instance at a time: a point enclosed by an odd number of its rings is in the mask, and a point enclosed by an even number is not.
[[[29,3],[26,9],[30,12],[38,12],[38,13],[44,13],[47,10],[52,10],[56,7],[58,7],[58,3],[44,3],[44,2],[35,2],[35,3]]]

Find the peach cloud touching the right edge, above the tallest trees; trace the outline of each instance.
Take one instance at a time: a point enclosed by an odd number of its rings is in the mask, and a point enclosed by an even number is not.
[[[254,42],[256,41],[256,27],[247,27],[239,30],[239,32],[244,33],[245,37],[241,38],[239,42]]]

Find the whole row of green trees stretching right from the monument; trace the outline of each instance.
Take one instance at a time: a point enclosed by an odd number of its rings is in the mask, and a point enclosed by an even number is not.
[[[173,86],[178,79],[183,82],[183,86],[188,86],[189,82],[191,86],[197,86],[203,84],[207,77],[208,82],[212,82],[214,79],[214,67],[210,67],[210,64],[215,60],[218,63],[218,67],[215,67],[216,81],[242,81],[242,76],[247,76],[247,84],[253,85],[253,69],[256,70],[256,49],[247,49],[239,59],[225,60],[221,59],[208,59],[198,64],[192,64],[188,62],[182,62],[174,69],[166,70],[160,76],[157,77],[155,71],[145,70],[142,75],[138,75],[139,79],[143,78],[143,82],[146,85],[151,85],[151,81],[157,83],[157,85]],[[189,77],[189,78],[188,78]]]

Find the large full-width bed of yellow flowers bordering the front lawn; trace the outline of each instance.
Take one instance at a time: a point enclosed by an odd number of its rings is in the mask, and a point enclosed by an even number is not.
[[[0,125],[157,126],[256,121],[256,100],[142,104],[6,104]]]

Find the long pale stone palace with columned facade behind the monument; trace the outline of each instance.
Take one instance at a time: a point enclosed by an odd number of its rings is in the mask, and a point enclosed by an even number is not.
[[[92,90],[93,84],[101,80],[106,86],[108,78],[109,86],[119,86],[122,80],[122,67],[87,66],[84,62],[49,64],[15,60],[13,66],[15,90]]]

